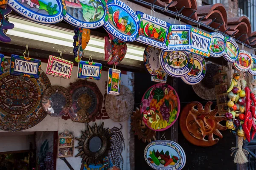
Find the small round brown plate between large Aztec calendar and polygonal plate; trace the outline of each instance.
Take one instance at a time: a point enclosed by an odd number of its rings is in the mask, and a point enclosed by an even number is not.
[[[51,116],[62,116],[70,110],[72,97],[66,88],[55,85],[44,92],[42,107]]]

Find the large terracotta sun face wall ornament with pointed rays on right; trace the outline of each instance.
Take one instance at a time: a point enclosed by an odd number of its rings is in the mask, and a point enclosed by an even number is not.
[[[191,102],[183,108],[180,113],[180,130],[183,136],[192,144],[209,147],[218,143],[222,139],[219,130],[226,130],[227,127],[220,124],[227,120],[225,116],[217,116],[218,108],[211,110],[212,102],[207,102],[203,107],[200,102]],[[197,109],[195,109],[197,107]],[[205,139],[205,137],[208,137]]]

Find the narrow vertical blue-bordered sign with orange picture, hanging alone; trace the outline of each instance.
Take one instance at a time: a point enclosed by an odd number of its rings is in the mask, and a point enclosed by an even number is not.
[[[107,94],[119,95],[120,84],[121,84],[121,70],[109,68]]]

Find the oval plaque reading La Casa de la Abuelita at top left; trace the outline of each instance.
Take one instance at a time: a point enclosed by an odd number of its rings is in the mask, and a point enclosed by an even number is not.
[[[18,14],[38,23],[55,24],[63,19],[61,0],[9,0]]]

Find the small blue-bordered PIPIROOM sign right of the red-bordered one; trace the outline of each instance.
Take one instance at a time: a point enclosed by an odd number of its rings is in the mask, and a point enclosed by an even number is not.
[[[80,79],[100,79],[102,64],[99,62],[80,61],[77,77]]]

